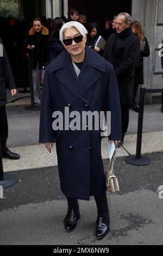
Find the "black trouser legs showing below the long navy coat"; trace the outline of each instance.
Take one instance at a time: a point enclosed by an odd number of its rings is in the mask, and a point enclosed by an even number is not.
[[[108,210],[108,200],[106,197],[106,193],[101,196],[94,196],[96,205],[97,205],[97,221],[100,217],[103,217],[103,221],[109,227],[110,220],[109,220],[109,210]],[[73,209],[74,213],[76,213],[77,217],[79,218],[79,205],[78,199],[67,198],[68,203],[68,213],[70,213]]]

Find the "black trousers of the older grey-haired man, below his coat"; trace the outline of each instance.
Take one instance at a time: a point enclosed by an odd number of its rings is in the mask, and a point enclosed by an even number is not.
[[[126,135],[128,125],[129,125],[129,104],[121,104],[121,119],[122,119],[122,139]]]

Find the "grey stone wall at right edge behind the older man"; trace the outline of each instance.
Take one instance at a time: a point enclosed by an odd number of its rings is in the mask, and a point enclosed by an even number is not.
[[[133,0],[132,16],[134,20],[141,22],[151,50],[151,56],[144,58],[144,86],[163,88],[159,57],[159,45],[163,39],[163,0]],[[158,95],[147,95],[146,103],[152,103],[152,97]]]

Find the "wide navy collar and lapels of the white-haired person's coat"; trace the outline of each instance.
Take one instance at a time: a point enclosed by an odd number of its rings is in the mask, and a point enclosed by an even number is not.
[[[72,93],[87,102],[85,91],[96,83],[101,76],[101,71],[105,71],[101,56],[98,56],[97,53],[86,46],[83,68],[80,71],[79,77],[77,77],[70,54],[66,51],[61,54],[60,63],[57,61],[53,62],[54,65],[52,65],[51,71],[55,71],[55,76],[63,86],[66,86]],[[95,54],[99,58],[98,63]],[[93,61],[94,59],[96,59],[96,62]]]

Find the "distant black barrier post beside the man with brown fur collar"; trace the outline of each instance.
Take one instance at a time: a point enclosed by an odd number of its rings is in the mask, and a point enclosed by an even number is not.
[[[28,58],[28,69],[29,69],[29,84],[30,84],[30,100],[31,100],[31,106],[26,106],[26,110],[39,110],[39,106],[35,106],[34,102],[34,92],[33,92],[33,79],[32,79],[32,68],[31,68],[31,60]]]

